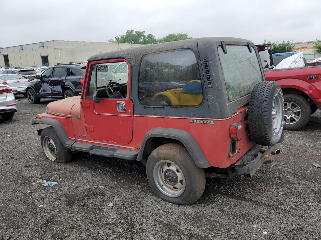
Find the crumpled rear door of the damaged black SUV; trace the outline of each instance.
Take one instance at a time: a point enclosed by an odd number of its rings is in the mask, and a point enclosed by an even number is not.
[[[52,78],[50,79],[51,97],[62,98],[63,87],[65,85],[66,67],[55,67]]]

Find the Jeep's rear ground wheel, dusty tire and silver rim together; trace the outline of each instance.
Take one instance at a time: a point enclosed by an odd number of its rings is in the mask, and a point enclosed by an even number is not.
[[[153,192],[170,203],[190,205],[204,192],[204,170],[179,144],[168,143],[154,149],[147,160],[146,174]]]

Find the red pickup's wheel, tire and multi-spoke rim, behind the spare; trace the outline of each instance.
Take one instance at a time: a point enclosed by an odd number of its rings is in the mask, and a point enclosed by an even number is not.
[[[299,130],[311,118],[311,106],[304,97],[297,94],[284,95],[284,129]]]

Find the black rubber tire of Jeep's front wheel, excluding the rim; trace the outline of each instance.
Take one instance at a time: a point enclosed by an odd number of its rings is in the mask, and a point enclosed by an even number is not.
[[[51,158],[48,155],[48,153],[46,153],[46,140],[50,138],[50,140],[53,141],[54,143],[54,149],[56,150],[56,158]],[[67,163],[70,162],[72,160],[72,152],[71,149],[66,148],[58,134],[56,133],[56,131],[53,129],[53,127],[47,127],[44,130],[42,130],[41,134],[40,134],[40,141],[41,141],[41,147],[44,150],[45,155],[47,156],[47,158],[50,161],[56,162],[56,163]]]

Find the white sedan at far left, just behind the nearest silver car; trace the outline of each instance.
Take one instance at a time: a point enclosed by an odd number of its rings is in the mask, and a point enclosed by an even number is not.
[[[27,96],[27,84],[29,80],[17,74],[0,74],[0,83],[9,86],[14,94]]]

